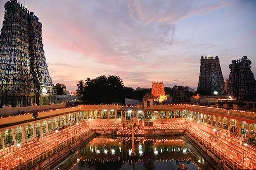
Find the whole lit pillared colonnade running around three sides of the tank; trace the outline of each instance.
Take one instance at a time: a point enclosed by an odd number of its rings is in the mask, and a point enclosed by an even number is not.
[[[250,119],[246,119],[246,121],[239,119],[239,117],[236,119],[234,116],[232,117],[226,114],[223,110],[215,112],[216,108],[194,106],[198,108],[192,109],[191,106],[187,107],[186,105],[177,105],[177,108],[175,106],[154,106],[154,108],[122,108],[120,106],[113,106],[112,108],[110,105],[106,106],[107,109],[104,109],[104,106],[101,105],[90,107],[84,110],[81,108],[81,111],[76,113],[52,115],[52,117],[47,119],[35,119],[32,122],[2,128],[0,129],[0,146],[4,149],[9,145],[26,142],[35,138],[38,133],[40,133],[40,136],[44,136],[56,128],[80,122],[82,119],[97,119],[97,121],[112,120],[112,122],[117,120],[126,122],[134,119],[135,121],[144,120],[145,122],[153,122],[154,120],[188,118],[196,122],[198,121],[204,126],[218,130],[222,129],[222,131],[230,131],[232,126],[237,127],[239,135],[241,134],[241,129],[246,128],[249,132],[256,129],[256,124],[252,124]],[[248,137],[250,137],[250,133],[248,133]]]

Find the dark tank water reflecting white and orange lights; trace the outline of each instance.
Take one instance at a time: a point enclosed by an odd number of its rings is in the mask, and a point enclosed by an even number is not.
[[[206,162],[187,146],[183,137],[154,139],[135,137],[136,158],[131,158],[129,137],[98,137],[80,148],[73,170],[175,170],[184,164],[189,170],[209,169]],[[198,159],[199,158],[199,159]],[[60,168],[61,169],[61,168]]]

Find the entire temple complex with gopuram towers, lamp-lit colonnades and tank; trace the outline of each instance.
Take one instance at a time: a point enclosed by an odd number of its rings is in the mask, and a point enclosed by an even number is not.
[[[256,80],[247,56],[232,61],[225,83],[218,56],[201,57],[197,91],[206,96],[192,100],[205,106],[192,104],[187,86],[166,88],[173,103],[164,104],[163,82],[152,82],[143,104],[75,102],[80,97],[55,95],[45,60],[38,17],[17,0],[6,2],[0,106],[13,107],[0,108],[0,170],[135,169],[136,163],[149,170],[161,162],[178,170],[256,170]],[[59,104],[47,105],[55,97]],[[206,106],[210,99],[217,102]]]

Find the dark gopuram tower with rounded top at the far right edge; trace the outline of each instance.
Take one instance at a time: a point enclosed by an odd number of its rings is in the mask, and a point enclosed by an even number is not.
[[[251,61],[244,56],[238,60],[232,60],[229,65],[227,93],[237,100],[256,100],[256,80],[251,71]]]

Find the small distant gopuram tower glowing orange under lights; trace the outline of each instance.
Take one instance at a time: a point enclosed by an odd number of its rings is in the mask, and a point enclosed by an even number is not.
[[[167,100],[167,96],[164,91],[164,82],[152,82],[151,94],[155,97],[155,101],[162,102]]]

